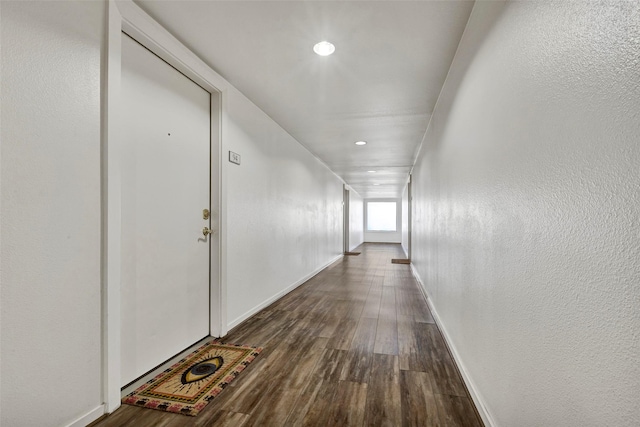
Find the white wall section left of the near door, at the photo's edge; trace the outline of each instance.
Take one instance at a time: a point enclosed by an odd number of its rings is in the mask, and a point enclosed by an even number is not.
[[[102,403],[105,4],[1,8],[0,425],[60,426]]]

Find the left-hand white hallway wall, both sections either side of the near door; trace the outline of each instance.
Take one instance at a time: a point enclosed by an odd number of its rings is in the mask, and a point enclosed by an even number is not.
[[[104,2],[2,2],[0,425],[99,409]],[[342,253],[342,182],[225,81],[228,319]],[[33,402],[38,410],[33,410]]]

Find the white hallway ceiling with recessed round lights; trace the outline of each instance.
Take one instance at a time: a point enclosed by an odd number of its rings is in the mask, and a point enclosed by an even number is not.
[[[473,7],[136,3],[365,198],[400,196]],[[333,55],[313,52],[322,40],[336,46]]]

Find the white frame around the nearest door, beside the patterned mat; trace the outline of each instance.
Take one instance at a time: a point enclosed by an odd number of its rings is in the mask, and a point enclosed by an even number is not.
[[[125,32],[211,94],[211,228],[209,333],[224,336],[226,327],[226,191],[221,165],[224,81],[188,48],[131,0],[109,0],[106,67],[102,85],[102,380],[105,412],[120,406],[120,281],[121,281],[121,39]]]

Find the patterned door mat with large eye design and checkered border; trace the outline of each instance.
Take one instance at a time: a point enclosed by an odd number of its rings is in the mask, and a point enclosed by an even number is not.
[[[261,347],[204,344],[122,399],[122,403],[195,416],[242,372]]]

